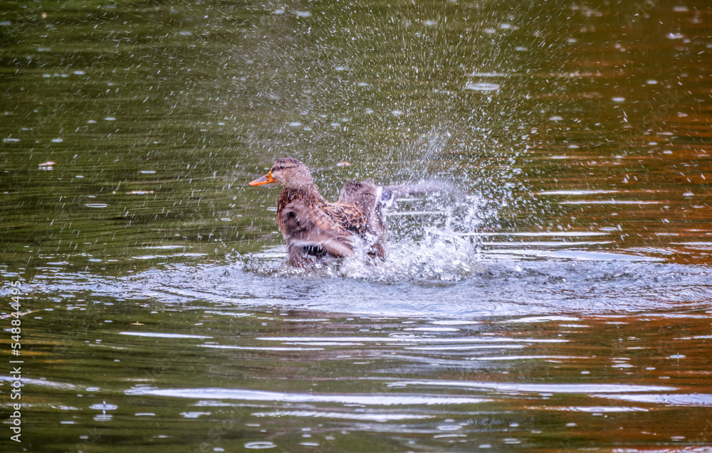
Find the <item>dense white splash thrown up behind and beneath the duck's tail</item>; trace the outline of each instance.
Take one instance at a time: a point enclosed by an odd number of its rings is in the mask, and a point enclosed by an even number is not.
[[[436,190],[397,198],[385,211],[389,225],[388,256],[384,262],[353,258],[315,269],[295,270],[284,264],[285,247],[242,257],[245,270],[258,275],[352,277],[377,281],[426,279],[457,281],[482,270],[483,225],[498,222],[501,202],[486,198],[476,188],[491,181],[471,180],[464,169],[444,166],[455,134],[433,129],[418,140],[394,149],[384,160],[393,183],[434,186]],[[422,164],[414,164],[419,162]],[[502,190],[505,190],[502,188]],[[501,199],[508,196],[501,196]]]

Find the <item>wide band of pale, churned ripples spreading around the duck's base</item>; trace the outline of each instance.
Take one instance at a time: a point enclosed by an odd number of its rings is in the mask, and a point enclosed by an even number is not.
[[[610,232],[507,234],[521,235],[515,238],[612,235]],[[466,236],[463,241],[476,243],[478,238],[488,236]],[[664,311],[671,307],[676,310],[712,307],[709,304],[712,300],[711,270],[666,264],[659,257],[642,253],[624,255],[558,250],[560,247],[555,250],[526,249],[522,245],[513,250],[501,246],[499,251],[480,251],[468,256],[469,249],[458,242],[447,245],[442,253],[435,255],[429,254],[430,247],[420,249],[417,246],[417,250],[398,250],[398,247],[396,244],[391,248],[392,261],[384,265],[329,270],[313,275],[283,266],[284,249],[280,247],[271,253],[263,253],[261,257],[248,257],[245,260],[248,264],[167,265],[165,270],[118,279],[87,279],[85,275],[63,273],[61,281],[54,281],[51,276],[40,275],[25,288],[28,293],[35,294],[75,294],[87,289],[97,296],[151,298],[168,306],[208,299],[216,307],[272,306],[378,316],[432,316],[432,321],[481,321],[481,316],[506,316],[508,319],[580,317],[612,311],[630,313]],[[520,255],[515,255],[517,252]],[[51,262],[59,261],[51,259]],[[52,275],[56,275],[56,268],[51,269]],[[384,300],[389,302],[384,304]],[[464,326],[444,327],[463,329]],[[275,346],[320,348],[336,347],[335,341],[402,342],[408,346],[469,346],[501,341],[481,336],[448,339],[439,338],[445,332],[432,334],[431,339],[422,338],[424,335],[410,338],[362,335],[337,338],[279,336],[263,341],[286,343]]]

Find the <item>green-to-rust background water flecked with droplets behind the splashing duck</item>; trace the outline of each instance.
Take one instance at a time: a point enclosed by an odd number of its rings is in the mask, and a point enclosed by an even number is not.
[[[244,183],[285,155],[330,197],[453,179],[496,206],[483,230],[703,238],[708,14],[676,7],[4,2],[3,262],[122,272],[277,245],[276,192]],[[531,195],[582,187],[674,212]]]

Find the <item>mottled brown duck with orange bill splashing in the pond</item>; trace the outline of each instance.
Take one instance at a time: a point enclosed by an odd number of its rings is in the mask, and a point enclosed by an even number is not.
[[[287,265],[311,267],[331,260],[386,259],[387,228],[383,208],[395,191],[373,181],[350,181],[335,203],[327,201],[302,161],[283,157],[250,186],[280,183],[277,223],[287,244]]]

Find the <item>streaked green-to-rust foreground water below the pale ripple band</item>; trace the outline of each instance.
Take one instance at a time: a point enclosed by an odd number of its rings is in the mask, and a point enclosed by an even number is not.
[[[91,436],[101,444],[104,426],[146,444],[226,450],[302,442],[439,449],[453,439],[577,449],[617,445],[610,430],[642,425],[651,434],[636,435],[636,448],[706,442],[709,321],[701,311],[468,321],[215,311],[199,299],[161,311],[127,299],[117,311],[115,300],[99,297],[93,316],[112,323],[79,334],[88,341],[69,343],[61,360],[33,363],[40,378],[24,380],[32,416],[63,427],[53,433],[61,448]],[[58,328],[71,315],[60,307],[32,321],[38,356],[66,343]],[[43,442],[42,432],[32,436]]]

